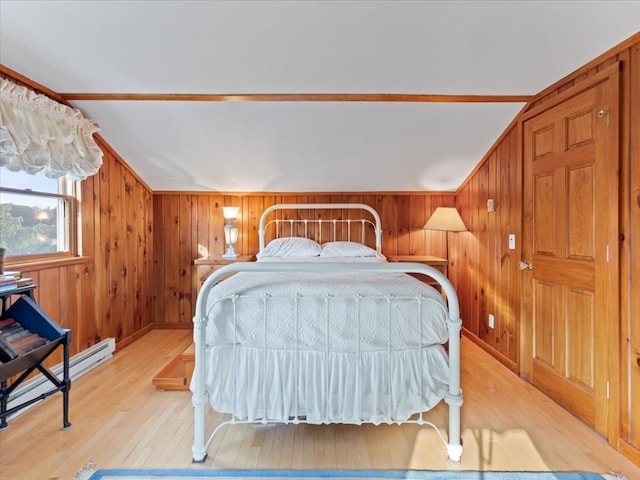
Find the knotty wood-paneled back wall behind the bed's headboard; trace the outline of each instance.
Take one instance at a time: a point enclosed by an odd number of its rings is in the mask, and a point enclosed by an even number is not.
[[[276,203],[359,202],[371,205],[381,216],[382,251],[387,255],[445,256],[443,232],[423,229],[438,206],[454,206],[453,193],[317,194],[278,195],[174,193],[154,195],[153,318],[156,327],[191,327],[197,295],[193,260],[198,245],[210,254],[225,251],[222,207],[240,207],[236,251],[258,251],[258,222],[265,208]],[[321,217],[326,213],[311,212]]]

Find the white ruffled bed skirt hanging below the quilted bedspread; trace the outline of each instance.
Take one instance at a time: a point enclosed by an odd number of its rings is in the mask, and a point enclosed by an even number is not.
[[[448,389],[442,345],[360,353],[208,346],[206,357],[212,408],[243,421],[402,422]]]

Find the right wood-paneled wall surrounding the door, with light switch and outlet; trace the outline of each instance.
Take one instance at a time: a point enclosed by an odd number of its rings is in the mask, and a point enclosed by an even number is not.
[[[553,100],[579,82],[620,62],[620,348],[622,364],[620,450],[640,464],[640,34],[594,59],[537,95],[529,108]],[[452,280],[461,298],[464,329],[516,372],[520,370],[520,239],[522,152],[519,119],[496,141],[457,192],[456,205],[470,229],[452,247]],[[488,198],[497,209],[487,212]],[[508,235],[518,238],[507,248]],[[495,329],[487,316],[495,315]]]

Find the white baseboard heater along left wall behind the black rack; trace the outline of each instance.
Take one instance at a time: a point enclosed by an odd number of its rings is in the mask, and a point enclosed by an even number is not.
[[[82,352],[74,355],[69,359],[69,377],[71,378],[71,382],[78,377],[81,377],[85,373],[90,370],[96,368],[98,365],[106,362],[113,356],[113,352],[116,349],[116,341],[113,338],[107,338],[100,343],[96,343],[94,346],[83,350]],[[56,365],[49,370],[59,379],[62,379],[63,364],[62,362]],[[8,408],[11,408],[12,405],[18,405],[25,401],[29,401],[33,398],[39,397],[41,394],[51,389],[51,383],[47,380],[44,375],[39,374],[35,376],[32,380],[25,382],[24,386],[17,389],[9,398],[9,402],[7,404]],[[36,402],[33,405],[37,405]],[[33,405],[25,407],[10,415],[8,418],[17,417],[22,412],[25,412]]]

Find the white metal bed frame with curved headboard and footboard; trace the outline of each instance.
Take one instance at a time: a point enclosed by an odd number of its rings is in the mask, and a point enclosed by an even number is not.
[[[376,235],[376,250],[380,252],[382,230],[380,228],[380,217],[377,212],[368,205],[364,204],[281,204],[269,207],[264,211],[260,218],[260,249],[264,248],[265,228],[268,226],[267,216],[278,209],[363,209],[369,211],[375,221],[372,224]],[[319,219],[318,219],[319,220]],[[298,221],[298,220],[296,220]],[[333,222],[333,220],[323,220],[324,222]],[[350,220],[350,222],[360,222],[361,220]],[[290,220],[279,220],[277,223],[289,223]],[[269,223],[271,223],[269,222]],[[303,220],[304,222],[304,220]],[[317,222],[317,220],[307,220],[306,222]],[[369,221],[369,223],[371,223]],[[290,225],[292,225],[290,223]],[[363,223],[364,225],[364,223]],[[364,228],[364,227],[363,227]],[[291,229],[293,233],[293,227]],[[305,228],[306,232],[306,228]],[[364,235],[363,235],[364,242]],[[206,409],[209,405],[208,395],[205,389],[206,368],[205,349],[206,349],[206,328],[209,321],[207,316],[207,297],[211,289],[229,274],[237,272],[403,272],[427,275],[438,282],[442,287],[442,291],[446,296],[448,303],[448,330],[449,330],[449,386],[445,395],[445,402],[449,406],[449,425],[448,438],[441,433],[440,429],[433,423],[426,421],[422,413],[418,418],[411,418],[405,421],[387,421],[387,423],[414,423],[419,425],[429,425],[433,427],[442,442],[446,446],[448,458],[454,462],[460,462],[462,457],[462,445],[460,435],[460,409],[462,406],[462,390],[460,388],[460,329],[462,321],[460,319],[458,297],[453,285],[446,276],[439,270],[420,263],[278,263],[278,262],[252,262],[252,263],[235,263],[224,266],[216,270],[202,285],[196,301],[196,311],[193,317],[194,323],[194,342],[195,342],[195,369],[192,377],[191,391],[192,404],[194,408],[194,442],[192,446],[193,462],[204,462],[207,456],[207,449],[216,433],[225,425],[241,424],[241,423],[306,423],[305,419],[294,417],[290,421],[274,422],[264,419],[259,422],[246,421],[232,418],[228,421],[220,423],[206,439]],[[235,301],[235,299],[234,299]],[[367,422],[362,422],[367,423]]]

